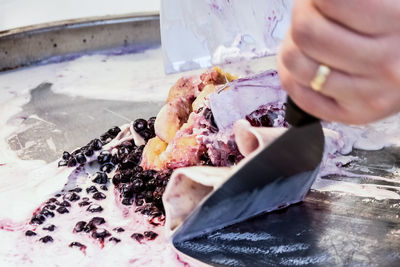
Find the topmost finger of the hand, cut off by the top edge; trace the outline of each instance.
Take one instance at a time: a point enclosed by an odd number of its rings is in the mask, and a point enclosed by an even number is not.
[[[313,0],[320,12],[350,29],[381,35],[400,29],[398,0]]]

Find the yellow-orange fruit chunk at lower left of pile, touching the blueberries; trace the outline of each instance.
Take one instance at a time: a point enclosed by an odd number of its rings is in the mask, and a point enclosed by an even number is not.
[[[144,148],[142,154],[141,166],[144,169],[160,170],[164,167],[164,163],[160,160],[160,155],[167,148],[167,143],[157,136],[150,139]]]

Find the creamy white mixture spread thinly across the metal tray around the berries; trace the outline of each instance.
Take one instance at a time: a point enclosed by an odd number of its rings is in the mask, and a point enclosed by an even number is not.
[[[252,66],[230,65],[227,70],[244,76],[270,67],[271,62],[273,59],[269,58],[257,61]],[[53,83],[52,90],[55,92],[73,96],[162,101],[168,94],[169,86],[179,76],[163,74],[161,52],[158,49],[135,55],[85,56],[70,62],[0,74],[0,120],[5,122],[0,128],[0,228],[3,229],[0,230],[2,240],[0,264],[7,266],[43,266],[55,263],[59,266],[73,264],[124,266],[134,263],[147,266],[184,265],[163,238],[160,227],[154,229],[160,234],[155,241],[138,244],[130,238],[133,232],[154,227],[149,225],[143,216],[120,206],[115,200],[112,187],[107,191],[107,198],[99,202],[104,207],[104,215],[101,216],[111,218],[106,223],[107,229],[117,226],[126,229],[124,233],[115,234],[121,238],[120,244],[115,245],[110,242],[101,248],[99,242],[88,238],[87,234],[72,234],[72,227],[76,221],[88,216],[85,210],[79,208],[71,209],[71,213],[57,215],[45,222],[45,225],[54,223],[57,226],[52,236],[62,237],[55,238],[52,244],[34,241],[37,240],[35,237],[25,237],[22,230],[30,229],[27,223],[32,212],[43,201],[63,188],[72,169],[58,169],[56,163],[21,160],[7,144],[7,139],[12,133],[22,130],[23,119],[13,116],[21,110],[22,105],[29,102],[29,90],[44,81]],[[330,158],[324,161],[322,174],[338,172],[340,169],[336,167],[337,162],[345,163],[352,160],[348,156],[337,157],[334,155],[336,152],[346,154],[353,146],[379,149],[388,145],[400,145],[399,124],[400,115],[363,128],[340,124],[326,125],[326,128],[330,129],[325,132],[329,152],[327,157]],[[84,175],[71,176],[70,179],[77,179],[78,183],[87,181]],[[382,186],[378,188],[374,185],[366,186],[350,182],[317,179],[313,188],[377,198],[400,198],[398,194]],[[43,230],[39,232],[43,233]],[[114,236],[114,233],[112,234]],[[79,249],[69,248],[68,244],[72,241],[87,245],[86,255]]]

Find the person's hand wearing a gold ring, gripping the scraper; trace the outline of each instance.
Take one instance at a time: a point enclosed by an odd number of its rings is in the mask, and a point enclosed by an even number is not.
[[[319,92],[318,66],[331,69]],[[327,121],[364,124],[400,111],[400,1],[296,0],[278,55],[283,88]]]

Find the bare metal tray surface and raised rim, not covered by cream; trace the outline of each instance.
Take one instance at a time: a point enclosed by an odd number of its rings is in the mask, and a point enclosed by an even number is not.
[[[105,49],[134,53],[159,45],[156,14],[40,25],[0,33],[0,70],[70,60]],[[42,84],[33,89],[31,101],[23,107],[22,114],[47,116],[46,120],[64,134],[55,135],[53,128],[28,120],[25,123],[37,125],[18,133],[15,142],[10,139],[11,149],[18,150],[21,140],[27,142],[52,136],[60,153],[63,149],[85,144],[109,126],[125,122],[120,117],[105,115],[99,106],[118,110],[119,114],[133,119],[155,115],[161,105],[69,99],[52,93],[50,88],[51,84]],[[79,117],[82,112],[90,112],[101,118],[101,122]],[[67,114],[61,121],[57,115],[60,113]],[[34,150],[25,151],[22,157],[46,161],[58,157],[59,154],[46,147],[46,142],[39,144]],[[400,167],[399,152],[395,148],[377,152],[355,150],[352,153],[365,160],[350,164],[348,170],[373,166],[369,168],[372,174],[393,178],[392,167]],[[359,175],[362,177],[363,173]],[[349,178],[331,176],[325,179]],[[369,181],[360,178],[356,182]],[[399,183],[399,179],[393,181],[397,186]],[[301,204],[183,243],[179,249],[214,266],[399,266],[399,214],[397,200],[378,201],[311,191]]]

